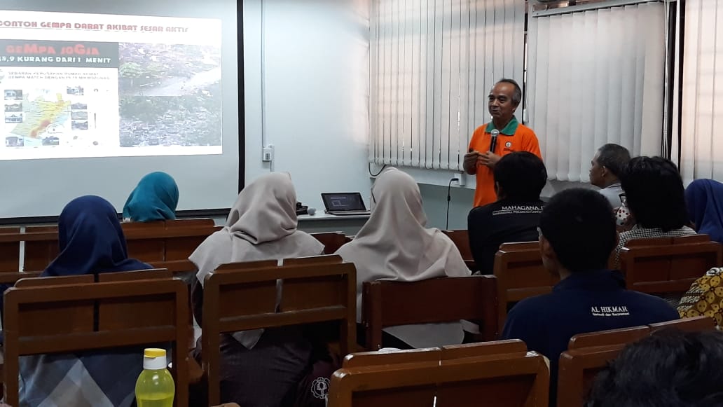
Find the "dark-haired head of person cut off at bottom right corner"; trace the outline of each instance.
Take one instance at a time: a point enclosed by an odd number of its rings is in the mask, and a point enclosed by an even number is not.
[[[723,406],[722,365],[723,333],[660,330],[597,375],[586,406]]]

